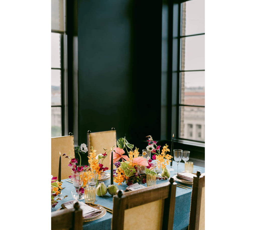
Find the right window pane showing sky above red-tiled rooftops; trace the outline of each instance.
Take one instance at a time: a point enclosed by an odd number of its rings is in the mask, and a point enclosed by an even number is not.
[[[205,71],[182,72],[181,78],[180,104],[205,105]]]

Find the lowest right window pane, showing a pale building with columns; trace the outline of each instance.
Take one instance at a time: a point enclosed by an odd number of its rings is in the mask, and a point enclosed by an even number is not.
[[[180,106],[180,138],[205,141],[205,108]]]

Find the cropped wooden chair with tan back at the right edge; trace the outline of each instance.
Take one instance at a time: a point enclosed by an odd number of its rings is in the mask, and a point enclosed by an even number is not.
[[[193,178],[191,205],[189,214],[189,230],[205,229],[205,173],[196,172]]]

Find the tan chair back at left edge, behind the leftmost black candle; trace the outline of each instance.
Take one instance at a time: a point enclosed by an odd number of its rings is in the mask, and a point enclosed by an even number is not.
[[[70,161],[68,158],[62,157],[66,153],[72,158],[75,157],[74,151],[74,136],[62,136],[51,138],[51,175],[58,176],[59,173],[59,158],[61,154],[61,179],[66,179],[72,175],[72,170],[68,166]],[[59,178],[58,178],[59,180]]]

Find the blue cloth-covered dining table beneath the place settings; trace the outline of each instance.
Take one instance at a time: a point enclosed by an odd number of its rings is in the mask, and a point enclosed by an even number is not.
[[[179,173],[185,170],[185,164],[180,162],[179,163]],[[168,168],[168,167],[167,167]],[[174,173],[177,172],[177,163],[173,162],[173,171],[170,171],[170,177],[175,176]],[[199,167],[194,165],[193,167],[193,173],[196,173],[197,171],[200,171],[201,173],[205,173],[205,168],[204,167]],[[110,170],[107,170],[106,172],[110,173]],[[74,200],[71,194],[71,191],[74,190],[74,186],[72,183],[67,181],[68,179],[62,180],[62,187],[65,187],[64,189],[61,190],[62,196],[68,195],[65,199],[58,200],[58,204],[54,207],[51,208],[51,212],[58,211],[58,209],[61,208],[61,204]],[[165,183],[165,180],[158,180],[158,183]],[[187,186],[189,188],[180,188],[176,187],[176,200],[175,200],[175,213],[174,213],[174,224],[173,224],[173,230],[185,230],[188,229],[188,223],[189,223],[189,211],[190,211],[190,202],[191,202],[191,192],[192,192],[192,185],[190,184],[183,184],[181,182],[175,181],[177,184]],[[110,185],[110,179],[104,181],[105,185],[108,186]],[[118,183],[114,184],[118,186],[118,189],[126,190],[128,187],[125,182],[122,183],[122,185],[118,185]],[[143,184],[144,186],[147,186],[147,184]],[[113,196],[111,196],[109,193],[107,193],[105,196],[97,196],[96,195],[97,201],[95,204],[107,207],[109,209],[113,210]],[[145,198],[146,199],[146,198]],[[83,200],[79,200],[81,202],[84,202]],[[150,213],[148,213],[150,217]],[[89,222],[84,222],[83,223],[83,229],[90,229],[90,230],[111,230],[111,219],[112,219],[112,214],[109,212],[106,212],[106,214],[98,219],[98,220],[93,220]]]

